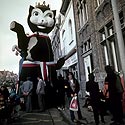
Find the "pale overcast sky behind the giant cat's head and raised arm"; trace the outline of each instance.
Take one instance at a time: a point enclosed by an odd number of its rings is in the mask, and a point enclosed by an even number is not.
[[[29,6],[35,6],[38,0],[1,0],[0,2],[0,71],[9,70],[18,73],[20,56],[12,52],[12,46],[17,44],[15,32],[10,30],[10,23],[17,21],[22,24],[25,33],[31,33],[27,16]],[[43,1],[43,0],[40,0]],[[62,0],[45,0],[52,10],[59,12]]]

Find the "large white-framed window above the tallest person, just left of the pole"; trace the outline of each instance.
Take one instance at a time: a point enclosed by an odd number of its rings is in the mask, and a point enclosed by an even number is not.
[[[106,24],[100,31],[100,41],[103,47],[104,63],[109,65],[110,63],[114,65],[115,70],[118,71],[118,59],[116,53],[116,44],[113,23],[110,21]]]

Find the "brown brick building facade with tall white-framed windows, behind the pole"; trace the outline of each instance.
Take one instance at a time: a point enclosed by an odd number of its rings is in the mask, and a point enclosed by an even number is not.
[[[117,0],[123,38],[125,39],[125,1]],[[105,65],[121,71],[118,41],[111,0],[73,0],[79,73],[83,91],[89,72],[103,86]]]

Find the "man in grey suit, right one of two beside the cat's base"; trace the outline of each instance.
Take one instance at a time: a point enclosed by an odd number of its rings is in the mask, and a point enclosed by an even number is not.
[[[37,77],[37,79],[38,79],[38,84],[37,84],[36,93],[38,95],[38,104],[39,104],[40,111],[44,111],[45,110],[45,86],[46,84],[41,77]]]

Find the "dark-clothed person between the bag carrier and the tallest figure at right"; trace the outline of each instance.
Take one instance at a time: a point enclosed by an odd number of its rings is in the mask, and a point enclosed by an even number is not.
[[[99,115],[101,116],[102,123],[104,121],[104,112],[101,107],[100,93],[99,93],[99,85],[94,81],[95,77],[93,73],[89,74],[89,81],[86,82],[86,91],[90,93],[90,102],[94,113],[94,120],[96,125],[99,125]]]

